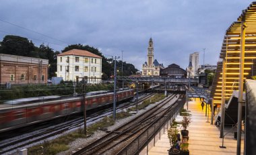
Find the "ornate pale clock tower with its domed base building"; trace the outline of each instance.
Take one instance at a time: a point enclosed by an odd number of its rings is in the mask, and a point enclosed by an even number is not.
[[[153,40],[150,38],[150,42],[148,43],[148,60],[144,64],[142,64],[142,75],[148,76],[159,76],[160,69],[164,68],[163,64],[160,64],[158,60],[154,60],[154,46]],[[154,61],[153,61],[154,60]]]

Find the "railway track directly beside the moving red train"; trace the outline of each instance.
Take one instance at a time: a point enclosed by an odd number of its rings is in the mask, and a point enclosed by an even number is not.
[[[150,94],[150,95],[141,97],[140,99],[138,99],[138,103],[145,99],[152,97],[152,95],[154,95],[154,94]],[[117,107],[117,110],[125,109],[125,108],[131,107],[133,105],[135,105],[135,102],[123,103],[122,105],[119,105]],[[112,109],[108,109],[104,112],[99,111],[97,113],[94,113],[93,115],[90,115],[90,117],[88,117],[87,123],[94,122],[98,119],[102,119],[102,117],[105,117],[106,115],[110,115],[111,111],[112,111]],[[30,144],[39,142],[41,140],[46,140],[47,138],[51,138],[53,136],[62,134],[63,132],[67,132],[67,131],[73,130],[77,127],[81,127],[82,125],[84,125],[84,119],[78,118],[78,119],[74,119],[72,121],[67,121],[65,123],[61,123],[59,125],[55,125],[54,127],[49,127],[47,129],[40,130],[40,131],[38,131],[37,134],[24,136],[23,138],[19,138],[18,140],[11,140],[11,139],[5,140],[5,142],[0,142],[0,154],[7,154],[8,152],[11,152],[15,149],[22,148],[24,146],[28,146]]]

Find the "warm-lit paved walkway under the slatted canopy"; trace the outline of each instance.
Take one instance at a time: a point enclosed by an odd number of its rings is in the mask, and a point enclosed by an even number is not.
[[[186,107],[186,106],[185,106]],[[204,107],[205,108],[205,107]],[[222,146],[222,139],[220,137],[220,131],[215,125],[210,125],[206,122],[205,111],[201,110],[201,103],[199,99],[189,102],[189,111],[192,114],[191,124],[188,127],[189,130],[189,154],[191,155],[211,155],[211,154],[223,154],[230,155],[236,154],[236,140],[234,140],[233,133],[225,136],[224,146],[226,148],[220,148]],[[182,119],[181,116],[177,117],[177,121]],[[210,121],[210,119],[209,119]],[[225,130],[226,131],[226,130]],[[226,132],[225,132],[226,133]],[[156,142],[156,146],[150,147],[150,155],[168,154],[167,150],[170,148],[170,143],[167,137],[167,133],[162,134],[161,140]],[[242,147],[243,150],[243,140]]]

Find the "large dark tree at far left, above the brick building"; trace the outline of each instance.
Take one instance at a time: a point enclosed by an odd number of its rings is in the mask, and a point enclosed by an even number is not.
[[[0,53],[17,56],[31,56],[34,44],[28,38],[7,35],[1,42]]]

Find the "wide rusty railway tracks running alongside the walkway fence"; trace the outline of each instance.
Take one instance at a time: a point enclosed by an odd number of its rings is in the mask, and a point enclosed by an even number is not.
[[[135,117],[128,123],[121,125],[121,127],[118,127],[116,130],[113,130],[109,134],[106,134],[99,140],[92,142],[81,150],[78,150],[77,152],[73,153],[73,155],[115,154],[115,152],[119,152],[119,150],[121,150],[121,145],[125,146],[125,144],[128,144],[134,140],[134,138],[141,134],[145,128],[148,128],[149,125],[152,125],[152,123],[154,123],[158,117],[163,116],[167,111],[169,111],[172,106],[168,108],[162,107],[164,107],[166,103],[168,103],[176,96],[177,94],[174,94],[164,99],[161,103],[152,107],[152,109],[149,109],[145,113]]]

